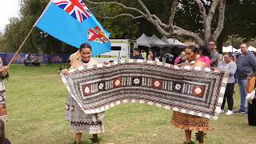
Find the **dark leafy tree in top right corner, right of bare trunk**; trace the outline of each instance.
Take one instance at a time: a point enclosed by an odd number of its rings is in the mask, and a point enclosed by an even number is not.
[[[256,38],[256,18],[254,0],[227,1],[224,29],[218,37],[217,46],[222,50],[223,42],[229,40],[234,46],[250,42]]]

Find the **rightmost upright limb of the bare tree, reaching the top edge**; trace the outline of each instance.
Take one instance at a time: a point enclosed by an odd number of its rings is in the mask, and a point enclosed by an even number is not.
[[[218,7],[218,26],[213,34],[214,41],[217,40],[219,34],[222,33],[222,30],[224,27],[225,5],[226,5],[226,0],[222,0],[222,2],[220,2],[220,6]]]

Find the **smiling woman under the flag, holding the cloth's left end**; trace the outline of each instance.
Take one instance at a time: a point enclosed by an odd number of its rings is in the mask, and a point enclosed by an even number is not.
[[[79,53],[81,58],[71,63],[71,69],[78,68],[79,66],[93,66],[98,62],[91,58],[91,46],[88,43],[83,43],[80,46]],[[67,69],[62,70],[62,74],[69,74]],[[76,142],[81,141],[82,133],[88,132],[92,134],[93,142],[98,142],[98,134],[104,132],[102,119],[104,112],[96,114],[84,113],[78,103],[70,95],[66,103],[66,120],[70,121],[71,131],[75,133]]]

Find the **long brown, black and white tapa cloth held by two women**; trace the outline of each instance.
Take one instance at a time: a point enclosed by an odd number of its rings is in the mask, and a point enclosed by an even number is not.
[[[128,60],[82,66],[62,75],[72,98],[86,114],[126,102],[146,103],[183,114],[218,119],[227,71]]]

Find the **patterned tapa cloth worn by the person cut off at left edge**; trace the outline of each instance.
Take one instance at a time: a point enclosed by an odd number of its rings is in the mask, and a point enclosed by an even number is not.
[[[0,119],[3,122],[7,122],[7,112],[6,112],[6,87],[0,79]]]

